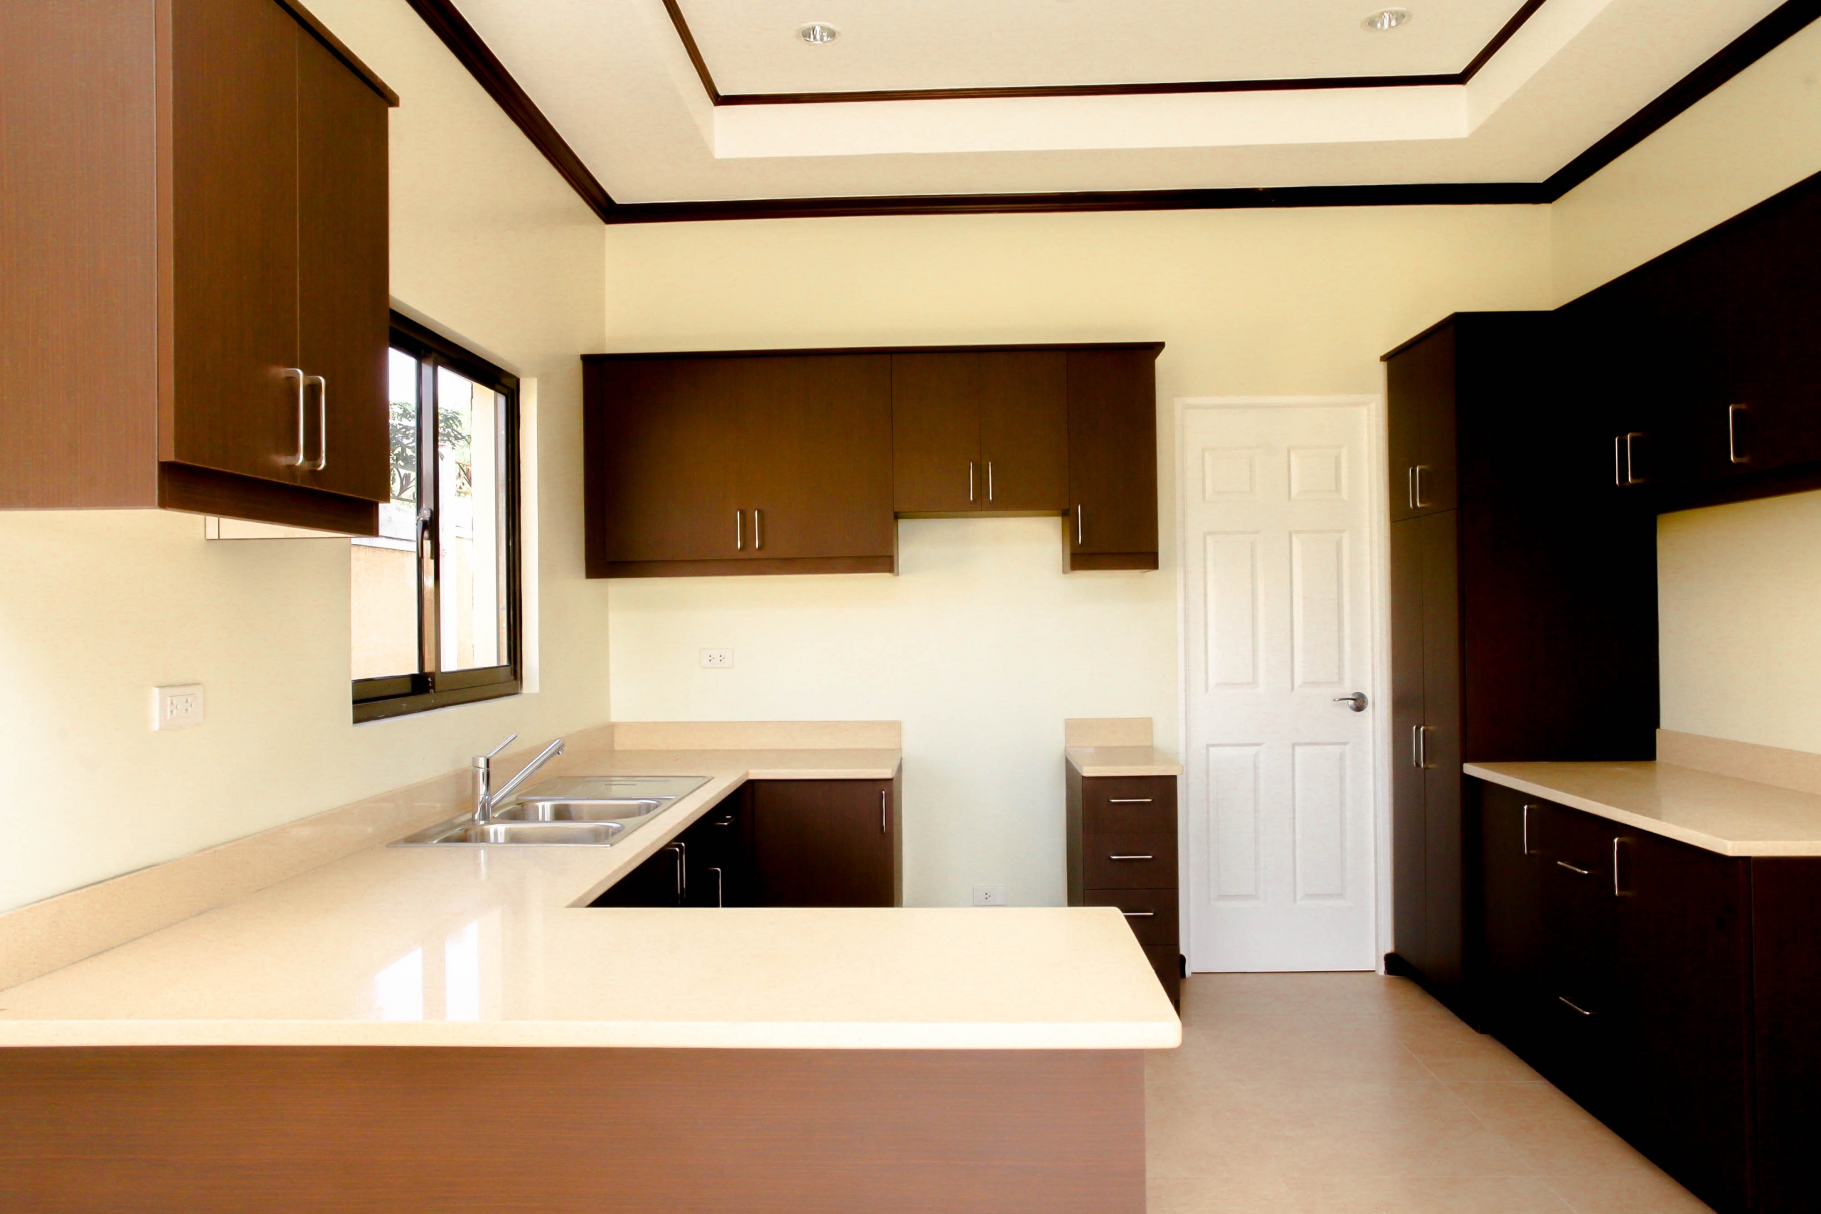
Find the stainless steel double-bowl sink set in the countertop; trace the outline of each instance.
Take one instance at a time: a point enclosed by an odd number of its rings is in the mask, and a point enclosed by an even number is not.
[[[612,846],[707,783],[707,775],[563,775],[532,784],[492,821],[452,817],[392,846]]]

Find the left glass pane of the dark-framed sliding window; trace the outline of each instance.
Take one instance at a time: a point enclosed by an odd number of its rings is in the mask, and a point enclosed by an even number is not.
[[[422,668],[417,630],[417,450],[421,364],[393,349],[386,366],[392,430],[392,501],[379,508],[379,537],[353,541],[350,590],[355,679]]]

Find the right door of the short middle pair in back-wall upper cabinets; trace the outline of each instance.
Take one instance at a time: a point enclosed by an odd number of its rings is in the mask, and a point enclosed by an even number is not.
[[[1069,508],[1069,373],[1062,351],[983,351],[980,459],[992,511]]]

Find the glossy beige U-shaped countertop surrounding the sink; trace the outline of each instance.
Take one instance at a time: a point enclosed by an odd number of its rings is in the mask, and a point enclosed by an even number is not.
[[[0,1047],[1178,1045],[1109,906],[586,906],[747,779],[890,779],[898,763],[896,750],[577,755],[552,772],[710,781],[614,848],[359,850],[0,992]]]

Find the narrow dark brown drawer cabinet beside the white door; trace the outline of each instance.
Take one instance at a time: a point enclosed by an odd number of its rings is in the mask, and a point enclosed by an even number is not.
[[[1082,775],[1067,764],[1069,905],[1118,906],[1182,1007],[1176,777]]]

